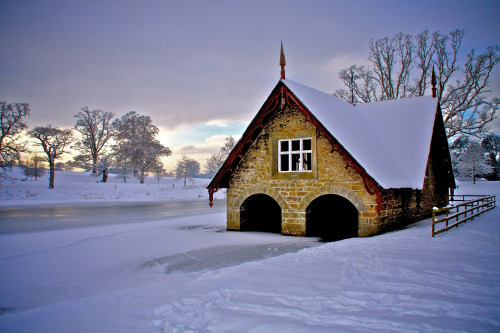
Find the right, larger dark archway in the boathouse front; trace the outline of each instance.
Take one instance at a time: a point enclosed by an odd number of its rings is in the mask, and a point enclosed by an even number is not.
[[[306,210],[306,236],[331,242],[358,236],[358,210],[346,198],[326,194]]]

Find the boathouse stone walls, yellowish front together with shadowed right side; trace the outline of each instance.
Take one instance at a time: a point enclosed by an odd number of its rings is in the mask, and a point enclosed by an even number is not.
[[[278,141],[294,138],[312,139],[313,170],[279,173]],[[263,128],[233,171],[227,191],[227,228],[240,230],[240,207],[245,199],[258,193],[272,197],[280,205],[282,234],[305,236],[306,209],[315,198],[325,194],[342,196],[356,207],[358,236],[402,227],[429,216],[436,202],[448,203],[447,188],[436,185],[439,175],[433,168],[434,155],[429,158],[423,190],[382,190],[382,206],[377,210],[377,197],[366,191],[362,177],[346,168],[343,157],[332,153],[327,139],[317,137],[315,126],[300,111],[286,108]]]

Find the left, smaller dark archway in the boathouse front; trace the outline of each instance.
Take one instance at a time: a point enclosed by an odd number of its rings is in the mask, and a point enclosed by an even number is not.
[[[281,233],[281,207],[266,194],[253,194],[240,207],[241,231]]]

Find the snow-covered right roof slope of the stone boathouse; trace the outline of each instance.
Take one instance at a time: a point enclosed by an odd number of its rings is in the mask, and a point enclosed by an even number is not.
[[[422,189],[437,98],[353,106],[290,79],[282,82],[380,186]]]

